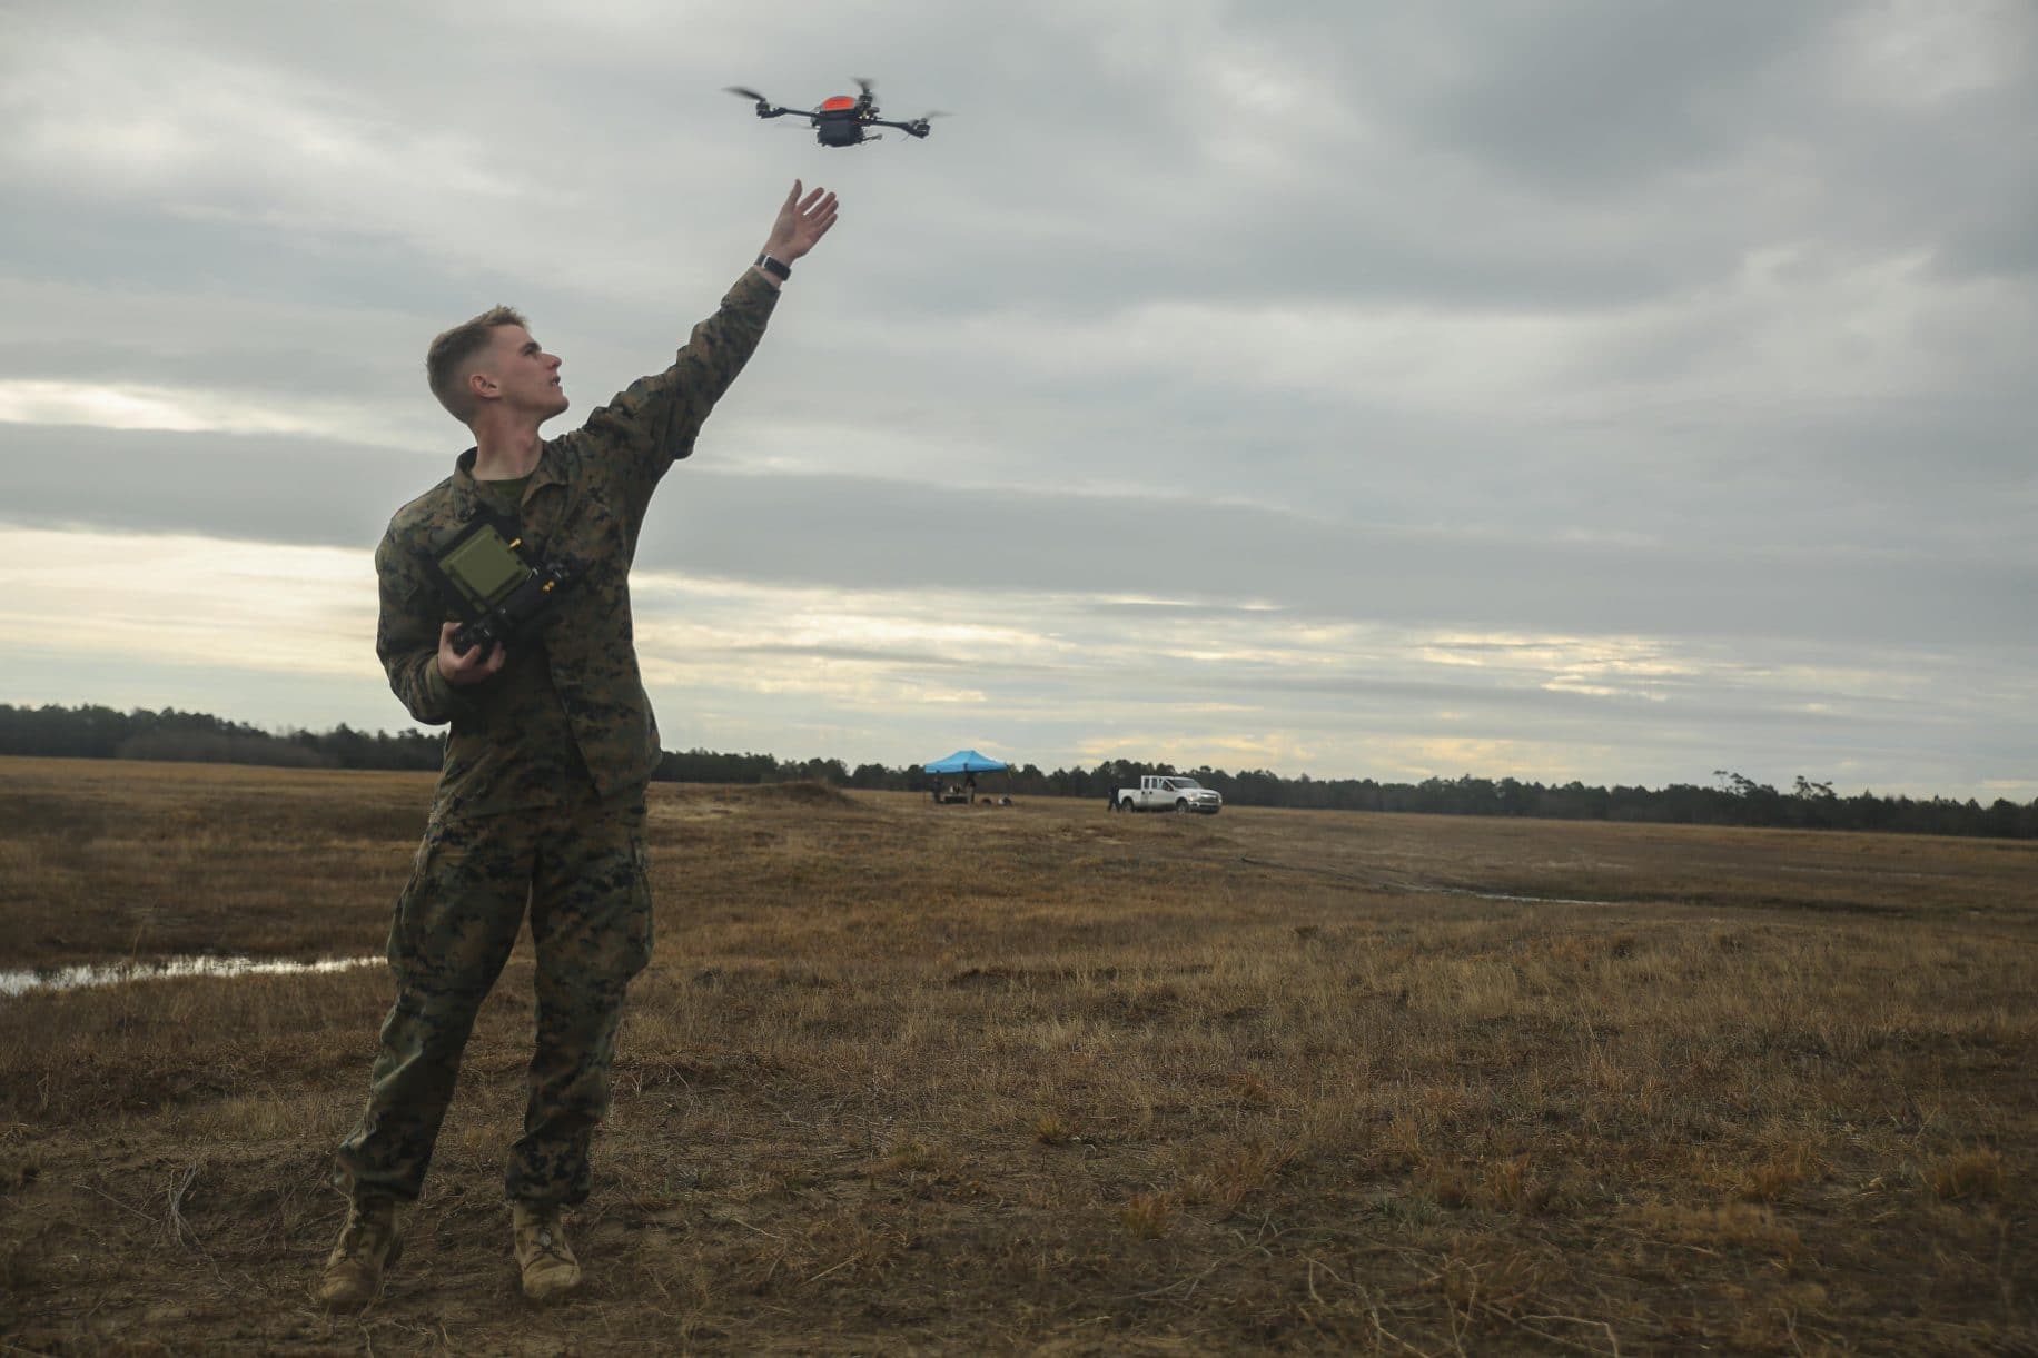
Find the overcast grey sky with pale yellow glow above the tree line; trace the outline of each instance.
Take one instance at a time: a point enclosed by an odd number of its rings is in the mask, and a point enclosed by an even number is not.
[[[404,728],[371,551],[795,177],[671,748],[2038,795],[2038,6],[0,0],[0,701]],[[874,77],[927,141],[823,149]]]

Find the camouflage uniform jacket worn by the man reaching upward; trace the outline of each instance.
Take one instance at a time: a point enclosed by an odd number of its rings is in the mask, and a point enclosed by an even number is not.
[[[503,669],[454,687],[438,630],[461,618],[432,563],[487,508],[475,451],[395,512],[375,549],[375,652],[389,687],[428,726],[450,722],[434,812],[495,814],[642,787],[658,767],[658,722],[638,675],[630,563],[650,495],[764,334],[779,292],[746,271],[697,324],[673,367],[620,391],[571,434],[548,438],[522,498],[524,540],[581,577]]]

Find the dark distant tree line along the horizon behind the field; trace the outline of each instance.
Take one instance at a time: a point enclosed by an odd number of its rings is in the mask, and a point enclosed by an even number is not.
[[[442,736],[418,730],[365,732],[334,726],[328,732],[265,732],[202,712],[114,712],[112,708],[12,708],[0,703],[0,754],[67,759],[167,759],[198,763],[275,765],[291,769],[438,769]],[[1795,830],[1891,830],[1903,834],[1963,834],[2038,838],[2038,799],[2016,803],[1997,797],[1879,797],[1861,791],[1842,797],[1832,783],[1798,777],[1789,791],[1716,769],[1710,785],[1671,783],[1649,787],[1588,787],[1584,783],[1522,783],[1518,779],[1374,779],[1282,777],[1266,769],[1176,769],[1129,759],[1107,759],[1094,769],[1041,773],[1019,765],[1009,773],[980,775],[986,793],[1015,797],[1096,797],[1137,787],[1145,773],[1192,777],[1215,787],[1229,805],[1276,805],[1321,812],[1410,812],[1420,816],[1539,816],[1547,820],[1618,820],[1690,826],[1771,826]],[[772,754],[717,754],[666,750],[652,775],[662,783],[829,783],[876,791],[925,791],[937,779],[919,765],[856,765],[840,759],[776,759]]]

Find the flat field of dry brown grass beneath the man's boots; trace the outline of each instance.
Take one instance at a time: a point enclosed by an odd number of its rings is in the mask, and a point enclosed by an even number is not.
[[[428,793],[0,761],[0,971],[379,952]],[[652,836],[581,1299],[499,1201],[528,950],[342,1317],[385,971],[31,991],[0,1354],[2038,1352],[2034,844],[821,787]]]

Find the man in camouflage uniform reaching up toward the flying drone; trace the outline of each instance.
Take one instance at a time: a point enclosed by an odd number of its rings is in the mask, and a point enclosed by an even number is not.
[[[567,410],[558,359],[522,316],[495,308],[432,343],[432,391],[475,447],[389,522],[375,553],[375,650],[412,716],[452,732],[389,930],[397,997],[367,1111],[338,1150],[334,1183],[351,1209],[318,1285],[328,1305],[371,1301],[397,1256],[397,1205],[424,1187],[461,1050],[526,903],[538,1046],[505,1189],[524,1293],[544,1301],[581,1281],[560,1209],[587,1197],[587,1144],[609,1103],[624,991],[652,944],[644,787],[660,748],[630,632],[638,526],[762,338],[789,265],[834,222],[836,196],[803,198],[795,181],[758,263],[673,367],[560,438],[538,438]],[[512,644],[457,652],[457,614],[434,563],[485,512],[536,559],[571,559],[579,579]]]

